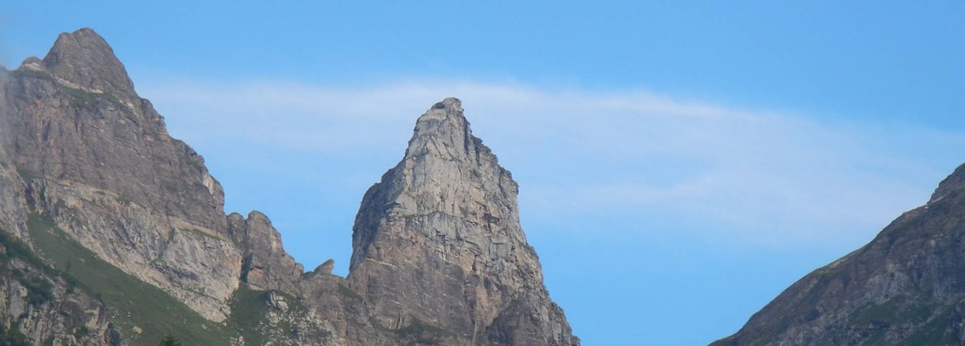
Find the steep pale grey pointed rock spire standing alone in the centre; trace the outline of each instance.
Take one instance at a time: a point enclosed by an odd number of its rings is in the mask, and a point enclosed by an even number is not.
[[[366,193],[347,279],[377,328],[425,324],[453,344],[578,345],[519,226],[516,182],[462,111],[455,98],[433,105]]]

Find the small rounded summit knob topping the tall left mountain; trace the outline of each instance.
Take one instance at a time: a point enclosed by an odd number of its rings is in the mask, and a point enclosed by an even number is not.
[[[27,59],[23,67],[45,71],[61,84],[88,93],[134,95],[124,64],[90,28],[61,34],[42,61]]]

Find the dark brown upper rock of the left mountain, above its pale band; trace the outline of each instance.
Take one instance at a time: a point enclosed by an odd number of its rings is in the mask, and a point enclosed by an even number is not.
[[[29,58],[14,72],[0,124],[15,129],[5,140],[19,170],[224,230],[224,193],[204,158],[168,134],[94,30],[61,34],[43,60]]]

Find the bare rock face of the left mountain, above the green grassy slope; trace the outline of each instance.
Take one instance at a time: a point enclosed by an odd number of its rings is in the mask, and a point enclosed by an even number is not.
[[[0,97],[10,168],[0,174],[22,178],[9,185],[19,191],[0,187],[15,199],[9,205],[46,215],[202,316],[227,317],[241,253],[227,235],[221,185],[134,93],[103,39],[90,29],[60,35],[43,60],[9,73]],[[25,234],[26,226],[8,227]]]

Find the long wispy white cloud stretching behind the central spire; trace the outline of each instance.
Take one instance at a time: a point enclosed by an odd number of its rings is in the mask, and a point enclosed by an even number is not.
[[[767,242],[873,232],[924,202],[951,171],[956,159],[941,147],[965,144],[962,133],[814,120],[644,92],[460,81],[352,88],[166,82],[140,91],[158,104],[172,132],[189,140],[327,158],[400,154],[415,118],[457,96],[475,133],[521,180],[524,213],[685,216]],[[920,154],[935,147],[937,155]]]

